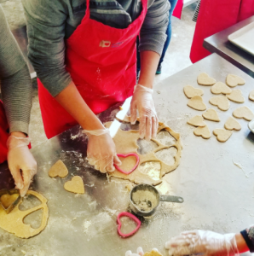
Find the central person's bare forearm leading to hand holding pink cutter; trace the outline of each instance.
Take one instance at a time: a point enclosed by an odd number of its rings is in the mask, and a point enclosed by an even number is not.
[[[101,121],[95,116],[95,113],[93,113],[84,102],[84,99],[80,96],[73,82],[55,96],[55,100],[78,121],[78,124],[81,125],[84,130],[105,129]]]

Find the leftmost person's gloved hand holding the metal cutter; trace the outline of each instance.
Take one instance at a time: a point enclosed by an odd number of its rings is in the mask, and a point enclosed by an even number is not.
[[[32,177],[37,172],[37,162],[27,147],[29,143],[30,138],[13,135],[7,141],[9,170],[14,177],[16,189],[20,189],[22,197],[26,195]]]

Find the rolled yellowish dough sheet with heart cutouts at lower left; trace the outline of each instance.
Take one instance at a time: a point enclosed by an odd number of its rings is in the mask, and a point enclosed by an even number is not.
[[[47,206],[47,199],[43,195],[32,190],[28,190],[27,195],[34,195],[42,203],[37,207],[33,207],[26,211],[20,211],[19,207],[22,202],[20,201],[19,204],[14,207],[14,209],[9,214],[7,214],[3,207],[0,205],[0,228],[20,238],[29,238],[38,235],[42,230],[45,229],[49,218],[49,207]],[[33,229],[30,224],[23,223],[23,220],[27,215],[40,209],[43,209],[43,218],[38,229]]]

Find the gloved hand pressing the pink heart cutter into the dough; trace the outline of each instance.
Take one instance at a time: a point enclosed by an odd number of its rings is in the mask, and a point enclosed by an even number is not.
[[[115,170],[114,164],[120,166],[122,163],[118,159],[116,146],[108,129],[87,131],[83,130],[89,137],[87,148],[87,160],[95,169],[105,173]]]

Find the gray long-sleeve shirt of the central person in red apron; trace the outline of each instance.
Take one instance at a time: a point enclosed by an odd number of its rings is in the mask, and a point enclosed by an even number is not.
[[[38,78],[52,96],[72,79],[65,68],[65,39],[84,18],[86,0],[22,0],[29,38],[28,57]],[[141,13],[140,0],[90,0],[90,18],[116,28],[125,28]],[[165,44],[170,3],[148,0],[141,27],[140,51],[159,55]]]

